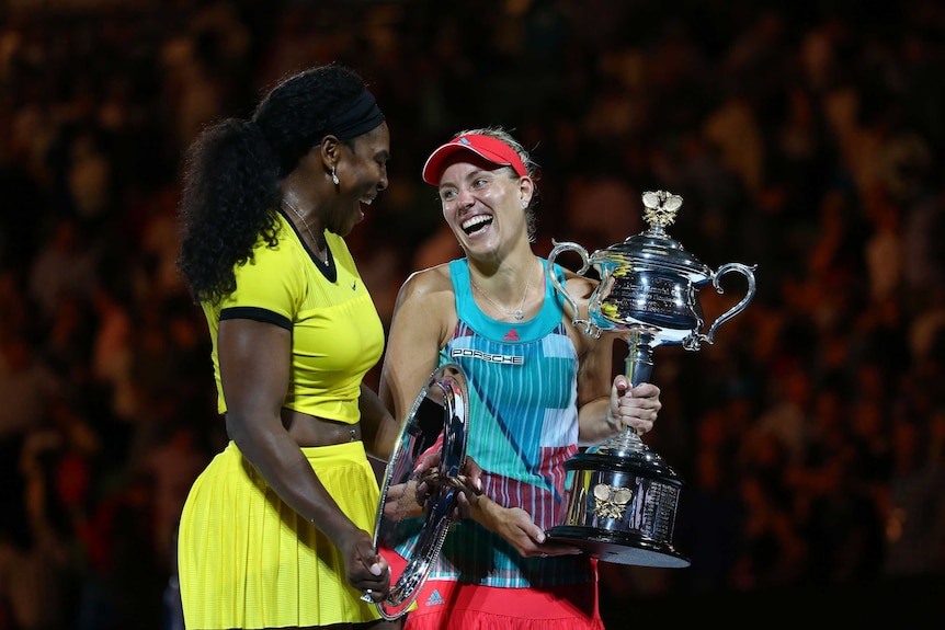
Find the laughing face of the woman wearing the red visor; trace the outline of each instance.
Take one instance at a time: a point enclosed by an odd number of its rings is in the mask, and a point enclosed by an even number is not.
[[[523,203],[531,196],[530,177],[485,160],[456,160],[440,176],[443,218],[470,257],[503,255],[522,243],[527,247]]]

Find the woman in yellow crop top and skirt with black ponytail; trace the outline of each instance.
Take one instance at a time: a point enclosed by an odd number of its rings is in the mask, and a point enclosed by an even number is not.
[[[337,65],[275,87],[187,154],[179,266],[206,314],[229,444],[179,532],[189,630],[395,628],[375,553],[398,425],[366,388],[384,330],[344,237],[387,187],[389,131]]]

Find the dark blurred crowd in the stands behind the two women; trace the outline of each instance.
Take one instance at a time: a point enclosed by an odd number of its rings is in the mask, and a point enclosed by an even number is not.
[[[7,0],[0,20],[0,630],[170,627],[177,517],[226,439],[174,267],[181,153],[330,61],[391,129],[351,237],[385,322],[412,270],[459,255],[420,168],[467,127],[542,165],[543,255],[642,231],[665,190],[687,251],[758,265],[714,345],[654,353],[646,440],[686,481],[692,566],[602,564],[608,628],[735,594],[941,598],[945,4]],[[722,286],[707,323],[745,291]]]

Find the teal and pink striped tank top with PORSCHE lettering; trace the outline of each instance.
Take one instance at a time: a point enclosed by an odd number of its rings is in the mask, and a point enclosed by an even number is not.
[[[543,261],[547,268],[547,261]],[[578,450],[578,355],[560,297],[547,277],[545,301],[527,321],[493,320],[476,306],[465,259],[449,264],[458,324],[440,352],[456,363],[469,389],[467,455],[483,469],[483,491],[517,506],[548,530],[567,516],[565,461]],[[563,272],[555,268],[563,284]],[[454,523],[431,580],[526,587],[593,580],[583,555],[522,558],[477,523]]]

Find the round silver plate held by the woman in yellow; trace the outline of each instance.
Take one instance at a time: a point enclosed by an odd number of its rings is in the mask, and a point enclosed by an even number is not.
[[[468,416],[466,376],[449,363],[433,371],[400,428],[380,488],[374,530],[375,549],[390,565],[390,594],[375,603],[387,620],[408,611],[446,538],[456,491],[441,480],[463,470]],[[436,466],[415,473],[420,459],[431,454],[439,455]]]

